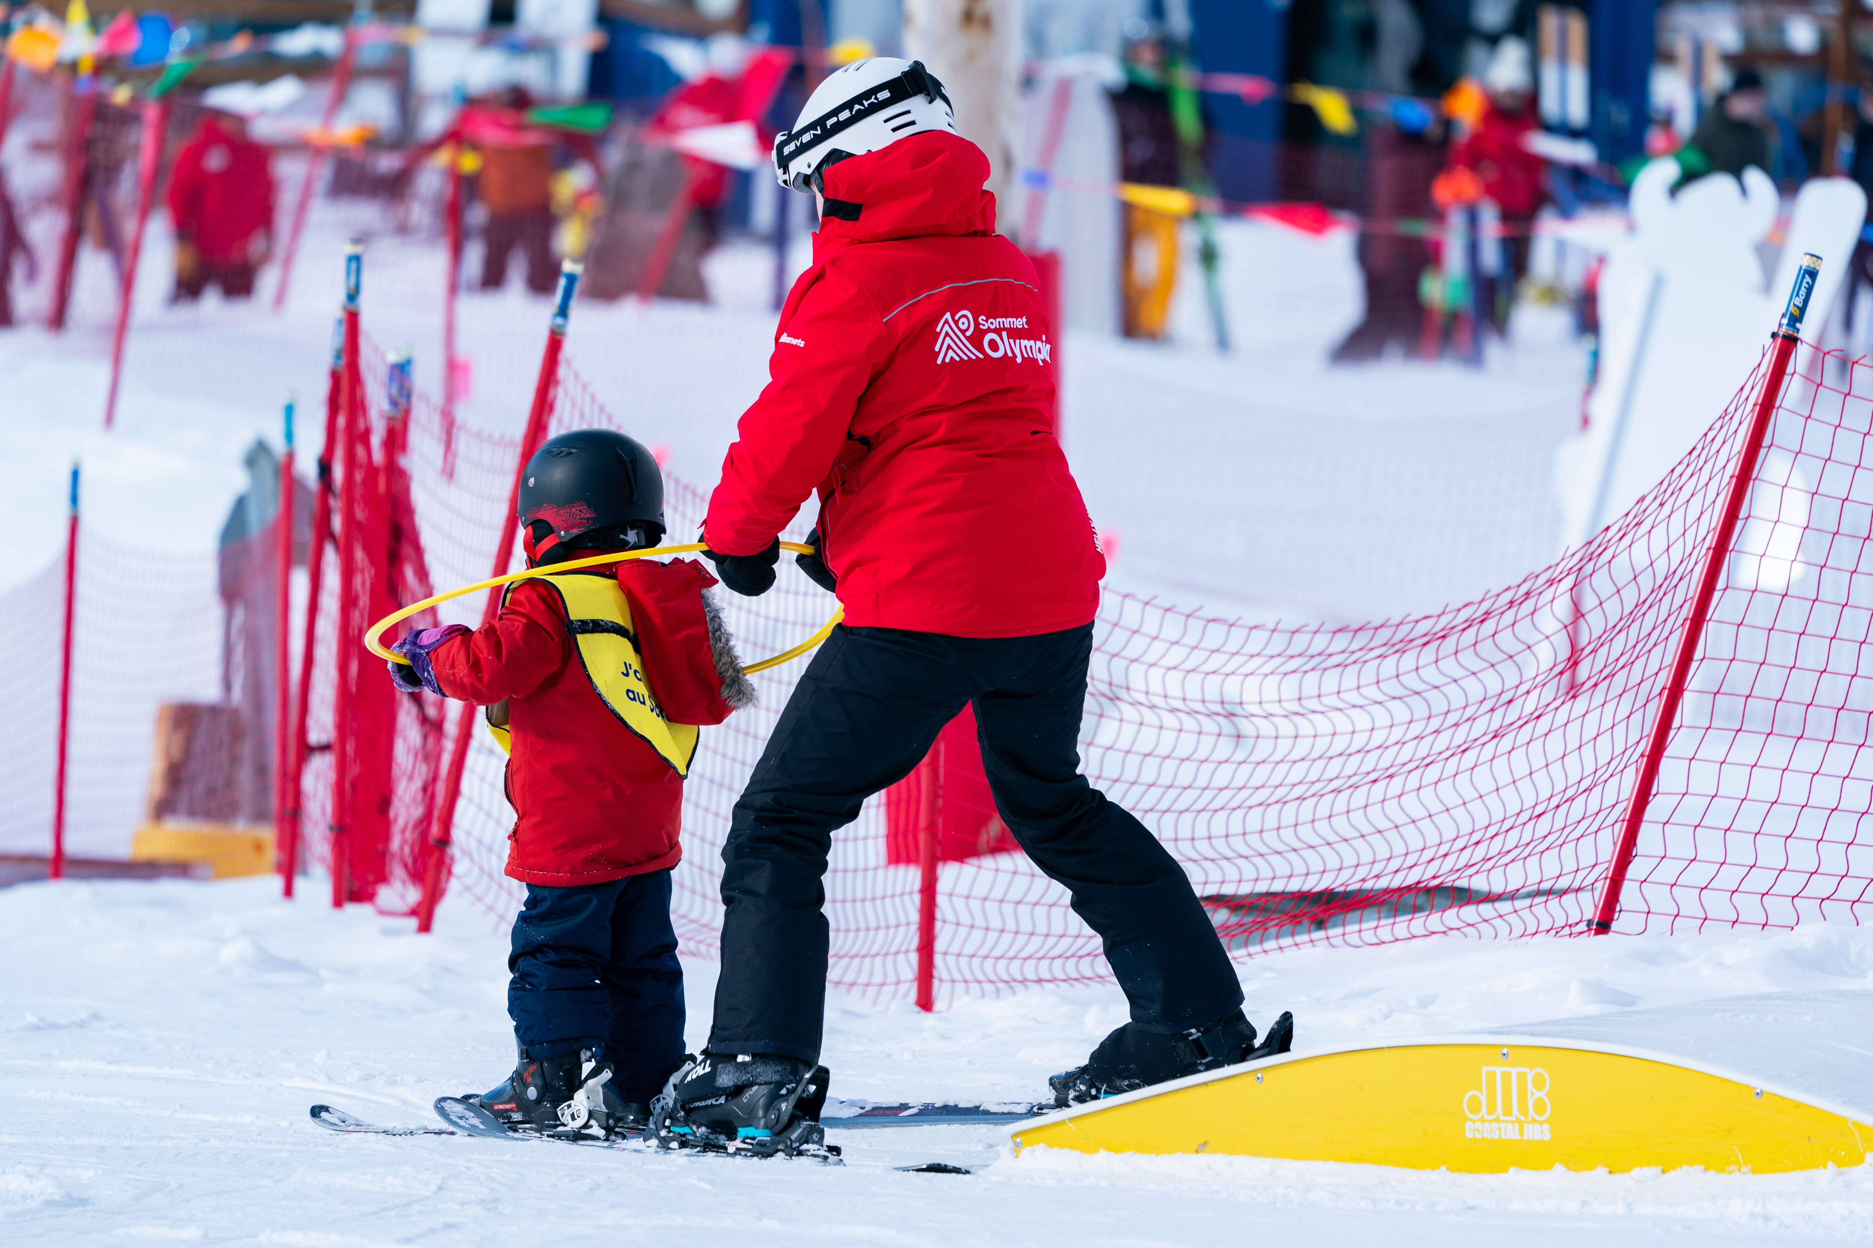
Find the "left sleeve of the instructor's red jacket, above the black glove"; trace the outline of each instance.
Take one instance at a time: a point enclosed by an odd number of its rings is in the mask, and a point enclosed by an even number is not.
[[[832,472],[858,399],[884,367],[892,335],[871,296],[837,269],[794,288],[781,311],[770,382],[742,414],[710,496],[712,550],[764,550]]]

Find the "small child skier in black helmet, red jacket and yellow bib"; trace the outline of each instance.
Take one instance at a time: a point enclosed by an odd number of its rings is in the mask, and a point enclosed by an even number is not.
[[[560,434],[521,479],[528,567],[663,539],[663,477],[611,430]],[[513,1130],[616,1134],[684,1057],[671,926],[697,726],[753,702],[699,563],[627,559],[508,588],[500,614],[408,632],[397,687],[485,705],[508,747],[508,958],[519,1063],[478,1098]]]

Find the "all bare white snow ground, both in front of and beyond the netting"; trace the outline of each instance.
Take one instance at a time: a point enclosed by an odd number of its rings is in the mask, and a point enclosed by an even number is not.
[[[15,135],[15,142],[24,142]],[[9,172],[17,170],[9,163]],[[287,178],[290,198],[292,178]],[[43,221],[34,219],[34,228]],[[86,524],[204,561],[255,436],[277,443],[279,399],[302,402],[317,449],[339,243],[371,236],[365,327],[416,350],[435,389],[435,238],[399,236],[367,208],[320,206],[292,297],[165,305],[167,223],[152,223],[118,428],[97,428],[107,384],[109,264],[81,256],[71,329],[0,333],[0,586],[52,565],[66,470],[86,464]],[[1193,251],[1193,249],[1191,249]],[[1302,239],[1227,223],[1225,286],[1238,350],[1206,344],[1201,284],[1184,283],[1172,342],[1068,335],[1064,438],[1088,505],[1118,539],[1109,584],[1180,606],[1364,619],[1474,595],[1551,558],[1555,445],[1577,425],[1581,354],[1556,312],[1525,309],[1491,367],[1386,361],[1330,370],[1358,318],[1345,234]],[[792,268],[805,262],[796,247]],[[476,256],[470,254],[472,273]],[[772,256],[710,260],[717,307],[588,305],[569,357],[671,470],[714,481],[734,419],[764,382]],[[37,312],[26,299],[24,314]],[[463,419],[521,425],[545,305],[465,294]],[[1716,415],[1712,412],[1712,415]],[[47,582],[49,584],[49,582]],[[122,829],[127,840],[129,829]],[[34,827],[7,827],[43,836]],[[837,1132],[843,1169],[626,1156],[476,1139],[345,1138],[305,1110],[332,1102],[429,1123],[429,1100],[508,1068],[506,941],[451,898],[438,932],[365,907],[333,913],[272,879],[60,883],[0,891],[0,1237],[15,1242],[511,1242],[626,1237],[760,1242],[1210,1244],[1305,1235],[1311,1244],[1847,1241],[1873,1227],[1873,1171],[1806,1175],[1412,1173],[1251,1158],[1030,1151],[995,1128]],[[691,1040],[706,1033],[714,967],[691,964]],[[1830,994],[1832,1044],[1866,1044],[1873,932],[1802,928],[1701,937],[1433,939],[1309,949],[1244,969],[1249,1014],[1300,1018],[1300,1046],[1618,1023],[1639,1044],[1723,1048],[1789,1023],[1791,997]],[[1849,995],[1843,995],[1849,994]],[[1663,1007],[1659,1014],[1644,1014]],[[1821,1007],[1817,1007],[1821,1009]],[[1678,1010],[1678,1012],[1673,1012]],[[1689,1012],[1686,1012],[1689,1010]],[[1813,1014],[1800,1014],[1807,1018]],[[923,1016],[833,999],[826,1061],[845,1098],[1028,1098],[1124,1018],[1114,988],[1038,988]],[[1689,1023],[1686,1020],[1691,1020]],[[1791,1038],[1783,1080],[1824,1046]],[[843,1138],[841,1138],[843,1136]],[[890,1166],[946,1160],[961,1177]],[[959,1186],[961,1184],[961,1186]]]

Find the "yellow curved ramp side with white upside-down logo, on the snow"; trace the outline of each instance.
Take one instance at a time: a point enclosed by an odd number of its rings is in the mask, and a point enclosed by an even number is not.
[[[1468,1173],[1772,1173],[1858,1166],[1873,1143],[1864,1121],[1787,1089],[1553,1040],[1289,1055],[1113,1096],[1011,1136],[1017,1151],[1236,1153]]]

